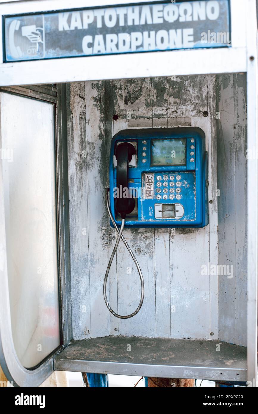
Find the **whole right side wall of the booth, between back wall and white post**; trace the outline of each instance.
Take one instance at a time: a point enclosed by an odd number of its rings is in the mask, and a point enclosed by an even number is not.
[[[227,274],[219,276],[219,339],[246,346],[248,157],[246,75],[217,75],[216,96],[218,263],[227,266]]]

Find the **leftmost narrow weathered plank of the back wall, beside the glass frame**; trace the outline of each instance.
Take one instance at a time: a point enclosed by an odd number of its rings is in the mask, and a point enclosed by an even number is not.
[[[70,261],[73,338],[91,336],[84,82],[67,84]]]

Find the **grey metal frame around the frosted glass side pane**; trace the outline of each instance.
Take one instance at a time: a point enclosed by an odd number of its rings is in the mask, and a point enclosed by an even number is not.
[[[48,86],[48,88],[50,88]],[[53,93],[55,91],[55,94]],[[0,364],[8,380],[14,385],[35,387],[53,373],[53,359],[66,347],[72,337],[72,310],[70,287],[70,245],[69,245],[69,194],[67,172],[67,134],[66,134],[66,85],[47,89],[45,85],[36,87],[6,87],[0,92],[14,96],[24,96],[55,105],[55,161],[56,161],[56,199],[57,199],[57,228],[58,228],[58,283],[59,283],[59,313],[60,313],[60,347],[57,348],[35,369],[26,369],[20,363],[12,339],[10,320],[10,303],[7,277],[7,257],[5,246],[5,209],[2,181],[2,160],[0,159],[0,246],[2,250],[3,269],[0,269]],[[1,129],[0,129],[1,143]],[[1,144],[0,144],[1,147]],[[4,311],[2,311],[4,310]]]

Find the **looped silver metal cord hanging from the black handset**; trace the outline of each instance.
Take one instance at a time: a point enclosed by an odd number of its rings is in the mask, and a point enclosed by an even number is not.
[[[112,224],[114,225],[115,229],[119,233],[118,233],[117,241],[115,243],[115,247],[114,247],[114,249],[112,251],[112,255],[110,256],[110,260],[108,262],[108,267],[107,267],[107,270],[106,270],[106,274],[105,274],[105,278],[104,278],[104,284],[103,284],[103,295],[104,295],[105,304],[107,305],[107,308],[112,313],[112,315],[116,316],[116,318],[128,319],[128,318],[132,318],[134,315],[136,315],[136,313],[138,313],[139,310],[141,309],[141,306],[143,304],[143,298],[144,298],[144,281],[143,281],[143,275],[141,273],[141,269],[140,269],[139,263],[137,262],[137,260],[136,260],[136,258],[134,256],[134,253],[132,252],[130,246],[128,245],[127,241],[125,240],[124,236],[122,235],[122,232],[123,232],[123,229],[124,229],[124,219],[122,219],[121,227],[119,229],[119,227],[117,226],[117,224],[116,224],[116,222],[115,222],[115,220],[114,220],[114,218],[112,216],[112,213],[111,213],[111,210],[110,210],[110,205],[109,205],[109,202],[108,202],[108,193],[109,193],[109,188],[106,189],[106,206],[107,206],[107,209],[108,209],[108,214],[109,214],[109,217],[110,217],[110,219],[112,221]],[[110,304],[108,303],[107,292],[106,292],[107,280],[108,280],[108,273],[109,273],[110,266],[111,266],[111,263],[113,261],[113,258],[115,256],[115,253],[117,251],[117,246],[118,246],[119,241],[120,241],[121,238],[122,238],[122,241],[124,242],[125,247],[127,248],[127,250],[129,251],[131,257],[134,260],[134,263],[135,263],[135,265],[137,267],[137,270],[138,270],[138,273],[139,273],[139,277],[140,277],[140,280],[141,280],[141,300],[140,300],[139,306],[138,306],[138,308],[133,313],[131,313],[130,315],[124,315],[124,316],[123,315],[118,315],[117,313],[114,312],[114,310],[111,309]]]

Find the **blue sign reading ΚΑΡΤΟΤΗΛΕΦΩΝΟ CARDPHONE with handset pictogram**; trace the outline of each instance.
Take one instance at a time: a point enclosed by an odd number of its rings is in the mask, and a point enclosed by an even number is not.
[[[4,18],[4,31],[6,62],[225,47],[230,46],[229,2],[154,2],[29,14]]]

